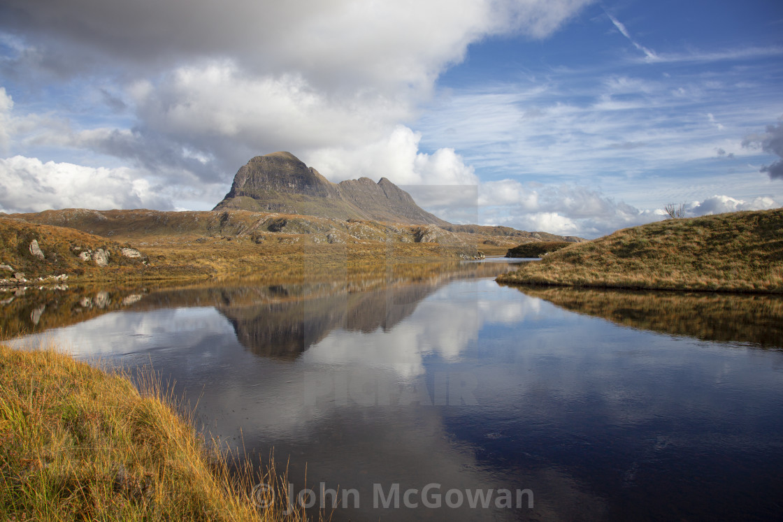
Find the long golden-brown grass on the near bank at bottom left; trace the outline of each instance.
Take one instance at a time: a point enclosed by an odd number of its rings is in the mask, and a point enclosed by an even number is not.
[[[182,418],[149,374],[137,391],[54,349],[0,346],[0,519],[302,520],[283,516],[285,477],[261,509],[251,466]],[[271,492],[266,492],[267,500]]]

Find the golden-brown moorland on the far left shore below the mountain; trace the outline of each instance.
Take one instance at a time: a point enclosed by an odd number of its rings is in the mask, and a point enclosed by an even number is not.
[[[448,225],[445,229],[450,232],[435,230],[438,243],[417,243],[422,229],[428,227],[268,212],[66,209],[0,216],[0,263],[34,277],[67,273],[69,281],[80,283],[258,273],[287,276],[301,271],[305,259],[310,265],[334,267],[408,259],[443,261],[479,251],[503,255],[525,240],[560,238],[505,227]],[[31,239],[38,239],[45,252],[56,251],[56,261],[32,257],[27,251]],[[82,243],[93,250],[110,247],[110,265],[98,268],[78,260],[73,247]],[[135,248],[145,257],[122,257],[120,247]]]

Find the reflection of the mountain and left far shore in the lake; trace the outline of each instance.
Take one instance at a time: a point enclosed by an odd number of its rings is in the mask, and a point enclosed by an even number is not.
[[[297,358],[340,327],[388,329],[413,313],[419,301],[453,279],[491,277],[506,263],[370,265],[342,272],[305,272],[278,279],[225,279],[187,286],[126,283],[3,289],[0,335],[19,337],[70,326],[112,311],[212,307],[236,337],[263,357]]]

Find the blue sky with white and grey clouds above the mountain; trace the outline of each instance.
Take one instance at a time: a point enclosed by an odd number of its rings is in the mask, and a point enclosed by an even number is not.
[[[279,150],[586,238],[781,207],[783,2],[0,2],[0,211],[211,210]]]

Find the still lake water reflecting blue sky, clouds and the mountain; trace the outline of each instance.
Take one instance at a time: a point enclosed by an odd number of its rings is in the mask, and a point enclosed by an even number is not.
[[[783,517],[780,297],[500,286],[507,268],[0,310],[45,325],[14,344],[152,365],[209,434],[288,461],[294,495],[337,490],[333,520]]]

